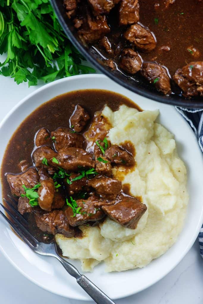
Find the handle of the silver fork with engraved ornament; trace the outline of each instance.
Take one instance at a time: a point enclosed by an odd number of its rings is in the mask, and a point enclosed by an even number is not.
[[[82,287],[86,293],[97,303],[97,304],[116,304],[113,302],[101,289],[93,284],[85,275],[81,275],[79,271],[68,261],[60,257],[58,253],[54,255],[63,265],[66,271],[74,278],[76,278],[77,283]]]

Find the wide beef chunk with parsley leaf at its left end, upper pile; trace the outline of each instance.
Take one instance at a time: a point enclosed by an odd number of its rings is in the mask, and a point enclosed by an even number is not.
[[[54,166],[59,166],[69,171],[78,171],[79,168],[94,168],[95,166],[93,154],[79,148],[59,150],[57,160],[58,163],[53,163]]]

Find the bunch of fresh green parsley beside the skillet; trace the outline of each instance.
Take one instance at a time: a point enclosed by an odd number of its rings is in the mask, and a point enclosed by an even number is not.
[[[65,36],[49,0],[0,0],[0,74],[37,85],[95,72]]]

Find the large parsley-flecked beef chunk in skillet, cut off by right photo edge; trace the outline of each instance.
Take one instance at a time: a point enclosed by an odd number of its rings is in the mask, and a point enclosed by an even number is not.
[[[203,96],[203,61],[191,62],[178,69],[173,80],[185,97]]]

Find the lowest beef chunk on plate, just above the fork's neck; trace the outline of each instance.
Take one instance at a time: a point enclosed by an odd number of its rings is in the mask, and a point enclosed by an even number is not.
[[[68,220],[62,210],[53,210],[51,212],[34,213],[37,227],[47,233],[61,233],[65,237],[73,237],[75,230],[68,224]]]

